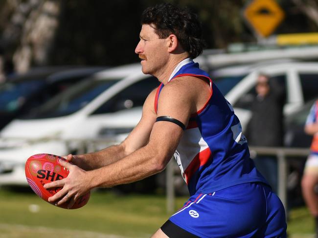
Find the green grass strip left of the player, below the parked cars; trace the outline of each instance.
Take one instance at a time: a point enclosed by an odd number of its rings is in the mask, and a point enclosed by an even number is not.
[[[185,199],[177,199],[179,207]],[[39,206],[39,211],[31,212],[31,204]],[[86,206],[67,210],[55,207],[33,193],[0,190],[0,224],[93,231],[125,237],[149,237],[171,215],[166,213],[165,207],[164,196],[116,196],[111,192],[94,192]]]

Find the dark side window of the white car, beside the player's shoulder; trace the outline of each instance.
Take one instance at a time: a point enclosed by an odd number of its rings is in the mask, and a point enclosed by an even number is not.
[[[142,106],[149,93],[159,86],[155,77],[149,77],[128,86],[112,99],[105,102],[92,114],[113,113],[124,109]]]

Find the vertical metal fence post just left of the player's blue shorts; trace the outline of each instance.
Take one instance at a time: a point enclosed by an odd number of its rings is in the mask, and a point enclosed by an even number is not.
[[[172,213],[175,209],[175,186],[174,186],[174,159],[170,159],[166,168],[166,195],[167,212]]]

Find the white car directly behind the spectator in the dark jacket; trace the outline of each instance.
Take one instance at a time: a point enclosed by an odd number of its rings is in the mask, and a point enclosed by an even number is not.
[[[228,67],[211,73],[216,85],[234,107],[243,131],[250,120],[251,99],[259,73],[275,78],[285,89],[284,115],[288,117],[307,101],[318,97],[318,62],[273,61]]]

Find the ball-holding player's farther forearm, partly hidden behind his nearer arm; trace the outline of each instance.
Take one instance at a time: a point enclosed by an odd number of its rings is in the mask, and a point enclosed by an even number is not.
[[[127,156],[125,148],[122,144],[119,144],[97,152],[75,155],[73,156],[72,162],[80,168],[88,171],[114,163],[125,156]]]

